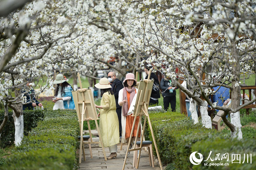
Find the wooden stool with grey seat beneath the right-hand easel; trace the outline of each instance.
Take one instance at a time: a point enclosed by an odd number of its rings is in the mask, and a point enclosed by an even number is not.
[[[136,148],[138,148],[138,147],[140,147],[140,141],[136,142]],[[142,147],[148,148],[148,157],[150,159],[150,166],[155,167],[154,158],[153,158],[153,150],[152,150],[152,141],[149,141],[149,140],[142,141]],[[133,167],[135,167],[137,165],[138,151],[139,150],[133,151]]]

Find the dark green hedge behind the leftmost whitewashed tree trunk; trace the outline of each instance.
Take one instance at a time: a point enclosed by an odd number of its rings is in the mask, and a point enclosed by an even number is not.
[[[9,110],[8,113],[8,121],[6,122],[0,140],[0,147],[4,148],[7,145],[12,145],[15,140],[15,126],[12,118],[12,111]],[[4,110],[0,110],[0,122],[2,123],[4,119]],[[44,111],[43,110],[24,110],[23,111],[23,119],[24,119],[24,135],[28,135],[28,132],[37,126],[37,122],[39,120],[44,119]]]

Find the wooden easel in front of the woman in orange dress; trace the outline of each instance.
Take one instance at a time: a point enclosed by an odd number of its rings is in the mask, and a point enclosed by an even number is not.
[[[154,141],[154,145],[155,145],[155,149],[156,149],[159,165],[160,165],[161,170],[163,169],[162,168],[161,159],[160,159],[160,156],[159,156],[159,153],[158,153],[157,145],[156,145],[156,140],[155,140],[154,132],[153,132],[152,125],[151,125],[150,118],[149,118],[148,111],[147,111],[148,104],[149,104],[149,101],[150,101],[150,95],[151,95],[151,91],[152,91],[153,83],[154,83],[154,81],[150,80],[150,75],[151,75],[151,70],[150,70],[150,72],[148,74],[148,78],[143,80],[143,81],[140,81],[140,83],[139,83],[139,89],[138,89],[138,96],[137,96],[137,99],[136,99],[136,105],[135,105],[135,108],[134,108],[134,112],[132,114],[132,116],[134,116],[135,118],[134,118],[134,121],[133,121],[133,124],[132,124],[130,139],[129,139],[127,151],[126,151],[126,154],[125,154],[123,170],[125,169],[125,163],[126,163],[128,152],[131,152],[131,151],[139,150],[139,158],[138,158],[138,162],[137,162],[136,168],[138,169],[138,167],[139,167],[143,138],[141,138],[140,147],[139,148],[135,148],[136,144],[134,144],[134,147],[132,149],[129,149],[129,146],[131,144],[131,138],[132,138],[132,134],[133,134],[133,130],[134,130],[134,126],[135,126],[135,122],[136,122],[136,117],[137,116],[140,117],[139,122],[141,122],[142,116],[145,116],[144,117],[144,124],[143,124],[143,128],[142,128],[141,136],[144,136],[146,121],[148,121],[148,125],[150,127],[151,135],[152,135],[152,138],[153,138],[153,141]],[[138,129],[137,129],[136,138],[134,140],[135,143],[136,143],[138,135],[139,135],[139,128],[140,128],[140,126],[138,126]]]

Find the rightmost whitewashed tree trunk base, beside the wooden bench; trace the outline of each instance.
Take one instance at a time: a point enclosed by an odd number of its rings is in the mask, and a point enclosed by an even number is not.
[[[242,125],[240,122],[240,111],[236,113],[231,113],[230,120],[231,120],[231,123],[235,126],[235,131],[234,133],[231,132],[231,137],[233,138],[237,137],[237,139],[243,139],[243,134],[241,131]]]

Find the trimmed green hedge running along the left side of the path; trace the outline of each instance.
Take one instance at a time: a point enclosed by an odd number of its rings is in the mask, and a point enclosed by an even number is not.
[[[77,169],[79,123],[75,110],[44,110],[22,144],[15,148],[1,169]]]

